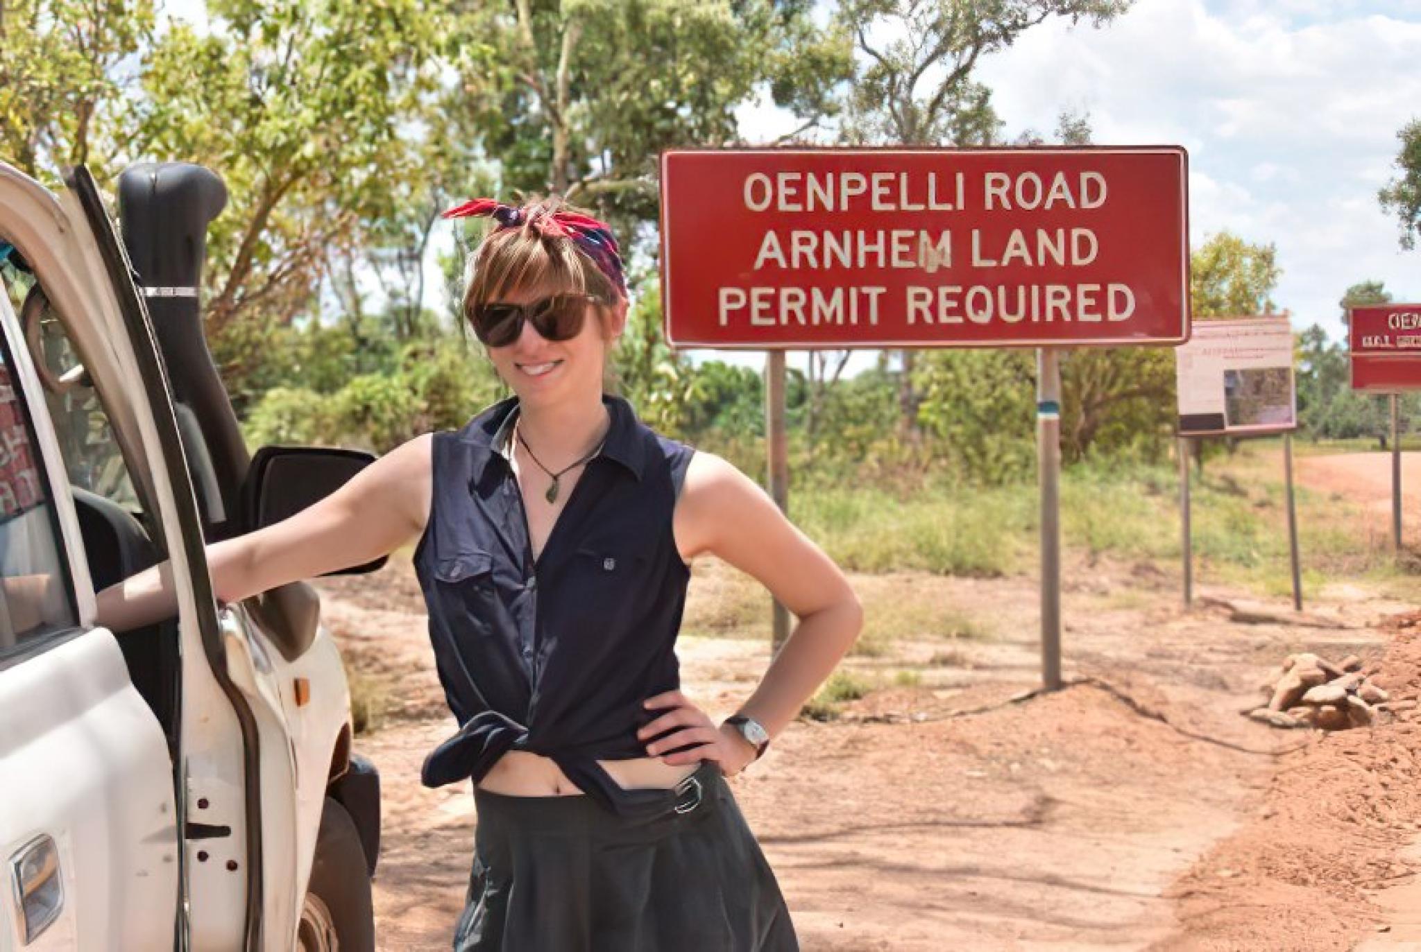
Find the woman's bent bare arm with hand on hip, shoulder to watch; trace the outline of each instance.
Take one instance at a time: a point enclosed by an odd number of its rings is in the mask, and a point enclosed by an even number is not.
[[[753,575],[799,624],[740,710],[779,735],[863,628],[848,580],[750,477],[713,453],[691,458],[675,517],[682,554],[712,553]]]

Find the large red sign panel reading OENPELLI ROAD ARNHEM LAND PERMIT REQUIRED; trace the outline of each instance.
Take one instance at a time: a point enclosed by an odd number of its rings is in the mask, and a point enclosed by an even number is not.
[[[1178,146],[661,156],[675,347],[1178,344]]]

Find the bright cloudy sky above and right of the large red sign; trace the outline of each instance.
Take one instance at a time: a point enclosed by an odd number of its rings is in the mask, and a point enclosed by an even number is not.
[[[1377,205],[1397,131],[1421,118],[1421,0],[1137,0],[1103,28],[1034,27],[976,78],[1007,139],[1071,109],[1101,145],[1185,146],[1191,243],[1273,243],[1273,300],[1297,330],[1341,340],[1337,301],[1363,280],[1421,300],[1421,250],[1400,249]],[[739,118],[750,141],[794,128],[764,104]]]

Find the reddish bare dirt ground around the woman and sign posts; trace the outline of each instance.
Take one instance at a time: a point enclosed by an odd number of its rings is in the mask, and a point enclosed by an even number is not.
[[[1326,480],[1346,466],[1319,475],[1317,462],[1303,460],[1300,479],[1330,492]],[[696,568],[693,600],[737,584],[715,563]],[[1275,621],[1235,624],[1223,602],[1239,604],[1239,593],[1205,587],[1214,607],[1184,612],[1177,580],[1147,566],[1077,561],[1067,578],[1066,674],[1080,683],[1019,703],[1039,681],[1030,578],[854,580],[870,627],[872,605],[941,601],[989,620],[992,635],[922,631],[890,654],[850,658],[887,686],[836,722],[796,722],[732,781],[804,949],[1400,941],[1405,915],[1388,919],[1385,907],[1407,904],[1421,722],[1323,739],[1238,710],[1289,652],[1383,658],[1395,635],[1380,622],[1411,605],[1337,584],[1306,617],[1255,600],[1249,614]],[[425,752],[452,726],[418,590],[408,564],[323,587],[340,595],[327,624],[347,658],[391,695],[384,726],[358,742],[385,784],[381,948],[446,948],[475,816],[468,787],[418,781]],[[712,715],[749,693],[767,662],[750,639],[685,635],[679,654],[685,689]],[[1415,696],[1417,662],[1421,645],[1398,641],[1378,678]],[[899,671],[921,682],[891,686]],[[1401,892],[1368,899],[1397,884]],[[1393,932],[1373,934],[1388,921]]]

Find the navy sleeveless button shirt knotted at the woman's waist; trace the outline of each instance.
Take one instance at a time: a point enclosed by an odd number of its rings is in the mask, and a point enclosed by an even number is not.
[[[611,428],[534,563],[507,438],[517,398],[433,435],[429,520],[415,574],[459,730],[425,760],[438,787],[477,783],[507,750],[551,757],[622,816],[671,790],[618,784],[598,763],[645,757],[642,702],[679,688],[676,634],[689,567],[672,514],[692,448],[604,396]]]

